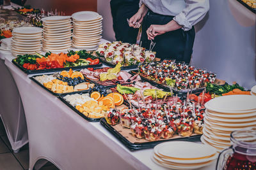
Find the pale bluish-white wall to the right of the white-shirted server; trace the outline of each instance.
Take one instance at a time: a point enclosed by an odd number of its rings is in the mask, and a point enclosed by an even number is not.
[[[216,72],[228,83],[237,81],[247,89],[256,85],[255,25],[241,26],[227,0],[210,0],[209,15],[196,30],[191,61],[196,67]]]

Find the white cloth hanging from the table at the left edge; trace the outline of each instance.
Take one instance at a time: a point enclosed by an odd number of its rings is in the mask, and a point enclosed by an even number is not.
[[[0,117],[12,149],[16,151],[28,143],[28,131],[19,91],[12,74],[4,64],[5,57],[12,58],[12,55],[0,50]]]

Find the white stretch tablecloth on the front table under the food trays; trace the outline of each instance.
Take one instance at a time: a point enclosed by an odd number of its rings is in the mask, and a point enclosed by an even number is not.
[[[26,114],[29,169],[42,159],[60,169],[164,169],[150,159],[152,148],[131,152],[99,122],[84,120],[31,81],[33,74],[20,71],[10,55],[6,55],[5,64],[19,89]],[[215,169],[215,164],[202,169]]]

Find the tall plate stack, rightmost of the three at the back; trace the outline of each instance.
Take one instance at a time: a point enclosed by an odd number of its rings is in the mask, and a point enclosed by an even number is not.
[[[80,11],[72,14],[73,41],[75,48],[95,50],[102,34],[102,16],[93,11]]]

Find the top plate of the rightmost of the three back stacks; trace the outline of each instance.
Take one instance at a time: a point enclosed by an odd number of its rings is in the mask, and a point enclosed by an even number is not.
[[[97,20],[97,18],[99,18],[99,13],[93,12],[93,11],[79,11],[79,12],[73,13],[71,17],[74,18],[74,20],[91,21],[91,20]]]

